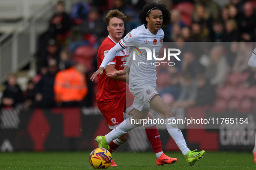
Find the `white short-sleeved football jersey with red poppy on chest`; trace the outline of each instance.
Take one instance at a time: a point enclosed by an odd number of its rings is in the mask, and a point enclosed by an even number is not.
[[[146,25],[141,25],[130,31],[119,44],[123,48],[130,47],[130,57],[127,66],[130,67],[129,85],[139,85],[141,83],[156,83],[156,62],[159,50],[162,47],[164,31],[160,29],[156,35],[152,34]],[[147,53],[146,49],[150,50]],[[135,54],[135,55],[134,55]],[[155,56],[155,58],[154,58]],[[147,60],[149,59],[149,60]],[[129,64],[128,64],[129,63]]]

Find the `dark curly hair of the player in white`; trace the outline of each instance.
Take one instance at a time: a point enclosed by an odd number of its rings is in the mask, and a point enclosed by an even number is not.
[[[139,21],[142,24],[147,24],[147,21],[146,21],[147,13],[152,8],[161,9],[162,14],[163,14],[163,24],[162,25],[164,27],[167,27],[171,23],[171,14],[169,12],[168,7],[162,3],[149,2],[145,6],[143,6],[143,9],[139,12]]]

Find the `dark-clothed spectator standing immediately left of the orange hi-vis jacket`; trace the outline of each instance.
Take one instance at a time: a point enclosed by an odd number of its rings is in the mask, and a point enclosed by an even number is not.
[[[35,99],[37,107],[55,107],[53,85],[55,75],[58,72],[56,60],[51,59],[48,62],[48,72],[42,76],[42,79],[35,86]]]

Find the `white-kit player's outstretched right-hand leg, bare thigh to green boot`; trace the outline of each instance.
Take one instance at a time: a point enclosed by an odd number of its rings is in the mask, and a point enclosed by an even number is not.
[[[178,145],[182,154],[187,159],[187,162],[192,166],[196,161],[201,159],[205,151],[197,152],[197,150],[190,151],[187,147],[186,141],[180,129],[178,129],[175,120],[175,113],[172,109],[162,100],[159,95],[155,95],[150,101],[150,108],[159,113],[165,119],[165,126]]]

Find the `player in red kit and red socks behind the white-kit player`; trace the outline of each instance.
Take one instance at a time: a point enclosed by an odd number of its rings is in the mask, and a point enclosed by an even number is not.
[[[98,67],[102,63],[108,51],[121,40],[124,33],[125,20],[126,16],[117,9],[111,10],[107,13],[106,23],[109,35],[102,42],[98,50]],[[130,93],[129,87],[126,86],[126,75],[118,77],[107,77],[106,75],[106,73],[109,73],[110,71],[123,70],[126,64],[126,60],[128,58],[128,54],[126,53],[126,49],[121,50],[119,53],[117,53],[113,60],[111,60],[110,63],[108,63],[108,65],[106,66],[102,76],[98,77],[98,87],[96,95],[97,106],[100,112],[105,117],[110,129],[114,129],[115,127],[119,126],[121,122],[123,122],[123,120],[125,119],[123,116],[123,112],[133,115],[132,104],[134,96]],[[129,106],[126,106],[126,98],[127,101],[130,101],[127,103],[127,105]],[[148,117],[150,119],[153,118],[151,113],[148,114]],[[163,165],[175,163],[177,161],[176,158],[168,157],[163,153],[159,132],[156,128],[156,125],[145,125],[145,131],[149,142],[151,143],[152,148],[156,154],[156,164]],[[128,135],[129,134],[126,133],[123,136],[120,136],[119,138],[110,142],[108,148],[110,153],[115,151],[121,144],[126,142],[126,140],[128,139]],[[111,166],[117,165],[113,161]]]

